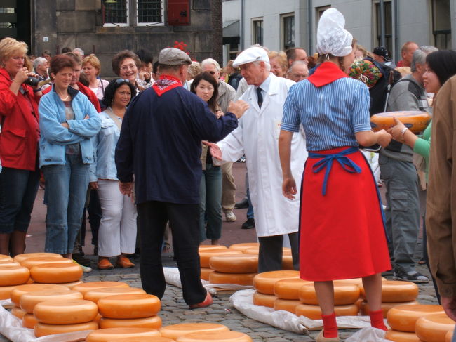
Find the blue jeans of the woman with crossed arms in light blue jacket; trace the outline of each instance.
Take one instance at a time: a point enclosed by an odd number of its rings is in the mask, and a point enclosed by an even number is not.
[[[82,163],[80,154],[67,154],[66,159],[65,165],[42,168],[48,204],[44,251],[58,254],[73,251],[88,187],[89,164]]]

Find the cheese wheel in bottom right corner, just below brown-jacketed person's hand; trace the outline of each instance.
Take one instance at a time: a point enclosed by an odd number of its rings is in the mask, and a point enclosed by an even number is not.
[[[422,341],[442,342],[445,341],[448,331],[455,330],[455,321],[445,313],[427,315],[417,320],[415,330]]]

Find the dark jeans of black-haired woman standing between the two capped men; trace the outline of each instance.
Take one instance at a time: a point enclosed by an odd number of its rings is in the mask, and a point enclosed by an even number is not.
[[[220,166],[206,164],[199,187],[200,241],[222,237],[222,170]],[[208,219],[207,225],[205,224]],[[206,225],[206,228],[205,228]]]

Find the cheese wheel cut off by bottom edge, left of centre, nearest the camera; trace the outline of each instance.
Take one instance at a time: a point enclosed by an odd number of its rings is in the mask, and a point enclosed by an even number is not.
[[[109,328],[92,331],[86,337],[86,342],[133,341],[133,338],[148,337],[149,341],[160,341],[160,333],[150,328]],[[153,339],[151,338],[153,337]]]

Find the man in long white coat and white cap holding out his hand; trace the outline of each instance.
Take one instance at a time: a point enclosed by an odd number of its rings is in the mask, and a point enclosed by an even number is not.
[[[282,173],[279,159],[279,133],[283,103],[294,81],[271,74],[269,58],[263,48],[248,48],[234,60],[246,79],[247,91],[241,99],[250,105],[239,126],[224,140],[208,143],[213,157],[223,162],[236,162],[246,154],[250,184],[250,199],[255,211],[255,223],[260,255],[258,272],[281,270],[283,235],[288,235],[293,265],[299,268],[298,227],[299,199],[282,195]],[[291,167],[296,180],[301,180],[307,158],[303,133],[294,133]],[[297,182],[300,191],[300,182]]]

